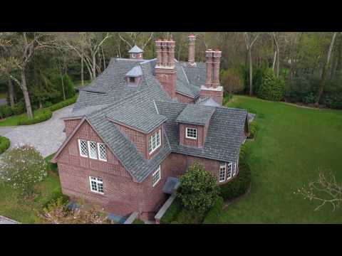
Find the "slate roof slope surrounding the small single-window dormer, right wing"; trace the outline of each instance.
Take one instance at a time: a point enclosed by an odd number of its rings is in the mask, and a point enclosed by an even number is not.
[[[167,117],[165,131],[172,151],[219,161],[238,161],[247,110],[203,106],[208,110],[214,110],[214,113],[210,119],[204,146],[202,149],[198,149],[180,145],[177,117],[187,107],[187,104],[156,102],[156,105],[158,112]]]

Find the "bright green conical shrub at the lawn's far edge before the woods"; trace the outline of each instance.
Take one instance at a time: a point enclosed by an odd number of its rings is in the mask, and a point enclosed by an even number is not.
[[[274,71],[270,68],[264,73],[257,95],[264,100],[279,101],[284,98],[285,82],[276,78]]]

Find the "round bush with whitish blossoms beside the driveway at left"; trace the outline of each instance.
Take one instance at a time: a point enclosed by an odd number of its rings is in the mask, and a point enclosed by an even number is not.
[[[0,178],[24,196],[33,193],[34,184],[46,176],[46,161],[33,146],[16,146],[6,151],[1,159]]]

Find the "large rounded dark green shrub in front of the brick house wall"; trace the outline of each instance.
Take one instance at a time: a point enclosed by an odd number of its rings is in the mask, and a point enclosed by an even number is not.
[[[195,162],[187,173],[180,177],[177,196],[190,213],[205,213],[214,203],[219,193],[216,178]]]

